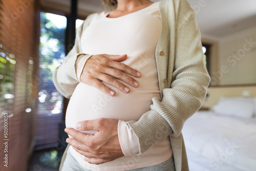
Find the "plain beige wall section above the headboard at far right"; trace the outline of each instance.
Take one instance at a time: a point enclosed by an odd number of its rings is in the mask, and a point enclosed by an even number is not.
[[[218,70],[218,85],[256,83],[256,27],[220,39]]]

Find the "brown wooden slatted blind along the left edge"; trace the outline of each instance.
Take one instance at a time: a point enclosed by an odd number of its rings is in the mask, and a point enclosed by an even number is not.
[[[0,138],[8,140],[8,170],[26,170],[33,144],[33,115],[36,112],[36,4],[25,8],[22,1],[0,0]],[[20,10],[20,11],[18,11]],[[15,16],[16,15],[16,16]],[[31,65],[33,61],[33,65]],[[34,93],[33,93],[34,92]],[[27,113],[30,108],[32,112]],[[4,113],[8,113],[8,137],[4,137]],[[0,170],[3,165],[0,145]]]

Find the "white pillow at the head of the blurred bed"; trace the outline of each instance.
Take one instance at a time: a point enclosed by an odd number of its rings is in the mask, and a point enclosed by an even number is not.
[[[212,109],[220,115],[240,118],[252,118],[254,114],[253,99],[244,97],[221,97]]]

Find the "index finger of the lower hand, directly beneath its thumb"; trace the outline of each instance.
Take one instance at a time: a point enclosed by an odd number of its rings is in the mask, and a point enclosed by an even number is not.
[[[72,143],[74,143],[73,140],[79,142],[79,143],[82,143],[86,146],[89,146],[92,142],[92,137],[93,135],[90,135],[90,134],[85,134],[85,133],[81,133],[77,130],[74,130],[74,129],[71,129],[71,128],[66,128],[65,129],[65,132],[68,133],[71,137],[73,138],[70,138],[72,139]],[[67,140],[70,140],[70,139],[67,139]],[[68,142],[69,143],[69,142]],[[70,144],[70,143],[69,143]],[[71,144],[72,145],[72,144]],[[76,147],[77,149],[80,149],[79,147],[76,146],[77,144],[73,144],[72,146]],[[78,144],[79,145],[79,144]]]

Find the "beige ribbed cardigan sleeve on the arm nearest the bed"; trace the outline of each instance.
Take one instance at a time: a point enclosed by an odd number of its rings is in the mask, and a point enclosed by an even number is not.
[[[138,137],[139,154],[168,135],[181,134],[184,122],[202,106],[210,81],[195,11],[187,1],[179,2],[170,88],[163,89],[161,100],[152,99],[151,110],[138,121],[127,122]]]

